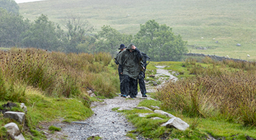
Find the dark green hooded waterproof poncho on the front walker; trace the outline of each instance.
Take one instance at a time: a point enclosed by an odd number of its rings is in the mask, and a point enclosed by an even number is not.
[[[139,75],[139,71],[142,69],[141,63],[143,62],[141,51],[138,48],[133,50],[132,45],[134,45],[134,43],[130,43],[127,46],[127,49],[120,52],[115,59],[119,64],[122,65],[123,74],[128,75],[130,78],[136,79]],[[132,52],[129,50],[132,50]]]

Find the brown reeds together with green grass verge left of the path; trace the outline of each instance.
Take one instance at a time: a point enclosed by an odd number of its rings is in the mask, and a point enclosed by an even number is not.
[[[36,48],[12,48],[1,51],[0,59],[0,102],[26,104],[27,128],[22,132],[27,139],[44,138],[36,130],[39,122],[60,118],[70,122],[91,116],[93,100],[88,90],[98,97],[111,98],[119,89],[117,67],[108,53],[67,55]],[[1,128],[9,121],[13,120],[1,116]]]

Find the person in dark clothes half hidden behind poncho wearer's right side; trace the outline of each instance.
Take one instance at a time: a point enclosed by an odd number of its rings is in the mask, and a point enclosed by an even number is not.
[[[137,79],[139,80],[139,87],[141,90],[142,97],[147,97],[144,78],[146,73],[146,66],[148,65],[147,61],[148,59],[151,59],[151,58],[148,57],[148,55],[146,55],[146,53],[144,52],[141,52],[141,55],[142,55],[142,63],[141,63],[142,71],[139,72],[139,76]],[[138,80],[136,80],[136,87],[138,87]],[[136,93],[138,94],[138,92]]]

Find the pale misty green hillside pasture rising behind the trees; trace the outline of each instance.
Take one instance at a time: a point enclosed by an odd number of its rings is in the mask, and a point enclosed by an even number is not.
[[[67,15],[81,15],[96,31],[110,25],[136,34],[140,24],[155,20],[172,27],[188,45],[196,45],[188,46],[190,52],[256,60],[255,0],[51,0],[19,6],[20,14],[30,20],[43,13],[60,23]],[[208,49],[197,50],[200,46]]]

